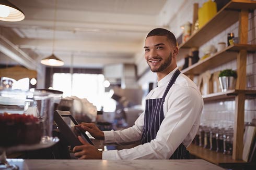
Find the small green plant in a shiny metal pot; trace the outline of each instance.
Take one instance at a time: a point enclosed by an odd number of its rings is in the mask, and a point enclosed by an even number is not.
[[[231,69],[220,71],[219,83],[222,91],[227,91],[235,88],[237,72]]]

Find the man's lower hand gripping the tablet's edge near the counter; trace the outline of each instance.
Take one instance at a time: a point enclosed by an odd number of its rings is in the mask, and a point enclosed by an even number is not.
[[[80,136],[78,136],[78,139],[84,144],[73,148],[73,152],[75,152],[75,156],[78,157],[79,160],[102,159],[102,152],[95,148],[95,146],[90,145]]]

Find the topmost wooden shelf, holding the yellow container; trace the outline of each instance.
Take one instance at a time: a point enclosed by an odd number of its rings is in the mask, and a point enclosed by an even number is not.
[[[241,11],[241,9],[256,9],[256,1],[230,1],[226,6],[217,12],[215,17],[208,21],[196,33],[191,35],[187,42],[179,45],[181,53],[183,53],[182,50],[185,50],[185,48],[200,47],[211,40],[214,36],[237,22],[239,20],[239,11]],[[181,60],[182,58],[184,58],[184,55],[180,55],[177,60]]]

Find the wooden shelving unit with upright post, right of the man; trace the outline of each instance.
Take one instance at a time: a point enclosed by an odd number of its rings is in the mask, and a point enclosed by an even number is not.
[[[256,9],[256,1],[246,0],[231,0],[226,4],[210,21],[208,21],[199,31],[191,35],[187,42],[179,45],[179,49],[187,50],[191,47],[200,47],[207,41],[211,40],[214,36],[230,27],[235,22],[239,21],[239,40],[240,44],[235,44],[226,47],[222,51],[219,51],[215,55],[206,58],[191,67],[182,70],[184,74],[193,77],[208,69],[213,69],[228,61],[237,60],[237,84],[235,90],[229,90],[225,93],[216,93],[203,96],[204,101],[222,100],[226,98],[234,98],[236,102],[235,108],[235,124],[234,124],[234,142],[233,142],[233,154],[232,163],[241,163],[242,160],[242,148],[243,148],[243,127],[245,117],[245,99],[247,96],[255,96],[256,90],[246,90],[246,60],[247,53],[255,53],[256,45],[247,44],[248,42],[248,16],[249,12]],[[178,56],[179,58],[182,56]],[[212,163],[218,163],[219,160],[209,159],[210,154],[205,154],[198,149],[195,151],[194,146],[191,149],[192,154],[196,154],[197,157],[208,160]],[[190,149],[191,147],[189,147]],[[202,154],[201,154],[202,152]],[[216,153],[217,154],[217,153]],[[213,156],[214,158],[214,156]]]

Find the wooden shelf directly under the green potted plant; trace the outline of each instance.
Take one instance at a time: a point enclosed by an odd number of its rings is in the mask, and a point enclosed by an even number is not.
[[[239,93],[245,93],[247,97],[256,96],[256,90],[228,90],[225,92],[203,95],[203,99],[204,101],[234,99]]]

